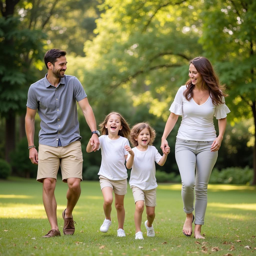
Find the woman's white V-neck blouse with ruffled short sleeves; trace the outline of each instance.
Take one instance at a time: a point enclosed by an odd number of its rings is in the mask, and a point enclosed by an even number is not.
[[[181,86],[170,106],[170,112],[181,115],[182,122],[179,127],[177,138],[193,141],[214,141],[216,131],[213,124],[213,117],[216,119],[225,118],[230,112],[222,97],[222,104],[218,106],[212,103],[209,98],[202,105],[198,105],[193,98],[189,101],[184,97],[183,92],[186,86]]]

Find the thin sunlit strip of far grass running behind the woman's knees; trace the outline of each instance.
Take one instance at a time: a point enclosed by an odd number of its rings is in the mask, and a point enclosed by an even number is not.
[[[160,184],[157,189],[181,190],[181,184]],[[256,192],[255,186],[232,185],[232,184],[208,184],[208,190],[211,191],[228,191],[228,190],[250,190]]]

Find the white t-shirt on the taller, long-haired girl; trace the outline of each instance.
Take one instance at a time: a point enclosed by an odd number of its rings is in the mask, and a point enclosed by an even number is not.
[[[108,135],[101,135],[99,141],[102,159],[98,175],[110,180],[126,179],[127,170],[124,165],[124,155],[127,155],[128,151],[125,150],[124,146],[130,146],[127,138],[120,136],[117,140],[111,140]]]

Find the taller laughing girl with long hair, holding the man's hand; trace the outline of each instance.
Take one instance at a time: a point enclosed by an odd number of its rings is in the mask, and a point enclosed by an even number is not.
[[[127,193],[127,170],[125,160],[128,152],[125,147],[130,147],[127,137],[130,127],[118,112],[109,113],[105,120],[99,125],[101,136],[99,137],[101,149],[100,187],[104,198],[105,220],[100,227],[101,232],[108,232],[111,225],[111,210],[113,202],[113,191],[115,194],[115,208],[118,219],[118,237],[125,237],[124,232],[124,195]],[[92,152],[93,145],[89,141],[86,151]]]

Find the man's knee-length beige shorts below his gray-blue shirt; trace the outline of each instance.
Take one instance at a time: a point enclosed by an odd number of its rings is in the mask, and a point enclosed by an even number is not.
[[[36,180],[55,178],[61,168],[62,181],[68,178],[79,178],[82,181],[83,155],[81,142],[74,141],[65,147],[51,147],[39,144],[38,170]]]

